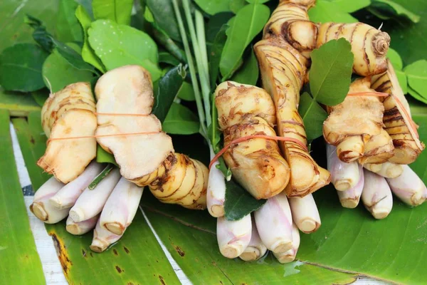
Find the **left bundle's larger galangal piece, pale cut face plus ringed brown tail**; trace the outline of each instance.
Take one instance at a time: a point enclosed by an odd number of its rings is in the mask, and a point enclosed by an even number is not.
[[[172,139],[152,114],[149,73],[141,66],[115,68],[97,81],[95,94],[97,141],[115,156],[122,177],[148,186],[162,202],[205,209],[208,169],[174,153]]]

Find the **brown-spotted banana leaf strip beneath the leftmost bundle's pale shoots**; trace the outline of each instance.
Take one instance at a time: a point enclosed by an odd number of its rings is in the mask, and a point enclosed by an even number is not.
[[[31,182],[38,187],[48,178],[42,174],[43,170],[33,167],[46,149],[40,113],[30,113],[28,123],[22,118],[14,119],[14,127]],[[13,152],[10,153],[13,158]],[[179,284],[141,212],[137,213],[122,239],[102,254],[91,252],[89,248],[92,232],[81,237],[73,236],[66,232],[65,221],[46,224],[46,230],[53,239],[63,273],[70,284]]]

